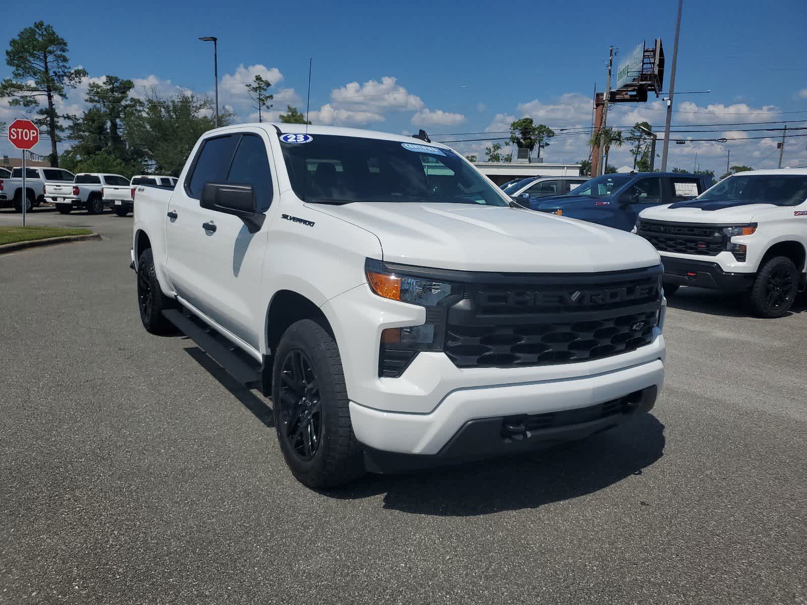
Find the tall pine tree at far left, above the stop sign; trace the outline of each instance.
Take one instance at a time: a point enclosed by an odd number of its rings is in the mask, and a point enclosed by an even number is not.
[[[6,50],[6,63],[11,68],[11,77],[0,82],[0,97],[10,97],[10,105],[36,110],[34,122],[50,138],[50,162],[59,165],[56,143],[59,133],[65,130],[61,124],[64,115],[56,111],[54,97],[65,97],[65,90],[75,88],[87,73],[84,69],[72,69],[67,57],[67,41],[56,34],[53,27],[37,21],[20,31],[10,41]],[[45,106],[40,106],[44,98]]]

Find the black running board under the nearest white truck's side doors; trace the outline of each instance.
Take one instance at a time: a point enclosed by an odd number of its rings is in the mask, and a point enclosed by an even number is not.
[[[248,389],[261,389],[261,366],[241,353],[240,349],[221,336],[201,319],[185,315],[176,309],[162,312],[165,319],[173,323],[180,332],[199,345],[208,357]]]

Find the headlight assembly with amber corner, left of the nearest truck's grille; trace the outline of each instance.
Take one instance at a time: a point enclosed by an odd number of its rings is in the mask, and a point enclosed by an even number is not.
[[[382,261],[370,258],[365,264],[365,274],[374,294],[426,308],[425,323],[381,332],[378,376],[397,378],[420,351],[443,350],[446,311],[462,298],[461,286],[407,275],[405,269],[393,272]]]

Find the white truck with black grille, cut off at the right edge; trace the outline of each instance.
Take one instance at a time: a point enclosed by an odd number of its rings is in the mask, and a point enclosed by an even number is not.
[[[647,208],[636,232],[664,264],[664,291],[730,290],[760,317],[781,317],[805,290],[807,169],[754,170],[688,202]]]

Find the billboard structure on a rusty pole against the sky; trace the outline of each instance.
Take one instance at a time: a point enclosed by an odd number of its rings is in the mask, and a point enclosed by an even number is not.
[[[609,90],[610,103],[643,103],[650,93],[657,97],[664,82],[664,48],[661,38],[656,38],[652,46],[639,44],[617,67],[616,86]],[[605,94],[594,95],[594,132],[604,127],[607,117]],[[592,176],[600,174],[600,148],[592,146]],[[605,167],[603,166],[603,172]]]

